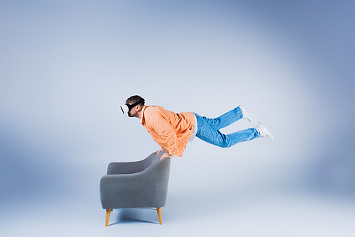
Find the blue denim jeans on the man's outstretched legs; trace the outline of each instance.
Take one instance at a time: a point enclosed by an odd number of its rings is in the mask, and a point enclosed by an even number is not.
[[[243,117],[243,113],[239,107],[226,112],[226,114],[218,118],[206,118],[198,114],[195,114],[195,116],[197,119],[197,138],[221,148],[229,148],[236,143],[253,140],[259,137],[255,128],[249,128],[231,134],[223,134],[219,131],[219,129],[229,126],[231,123]]]

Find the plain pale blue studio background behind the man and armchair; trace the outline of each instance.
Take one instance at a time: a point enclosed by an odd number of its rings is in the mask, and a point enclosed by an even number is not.
[[[351,1],[1,1],[1,236],[354,236]],[[159,146],[119,105],[210,118],[239,104],[275,140],[172,160],[163,225],[99,180]]]

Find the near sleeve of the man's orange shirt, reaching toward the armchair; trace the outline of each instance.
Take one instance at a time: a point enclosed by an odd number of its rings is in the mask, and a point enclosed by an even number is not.
[[[163,139],[168,144],[168,153],[176,155],[178,153],[178,138],[170,123],[159,114],[151,114],[148,119],[151,128],[158,134],[156,142],[160,144],[160,139]]]

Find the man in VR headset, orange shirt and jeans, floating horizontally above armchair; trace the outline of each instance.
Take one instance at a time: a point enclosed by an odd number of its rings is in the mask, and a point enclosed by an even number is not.
[[[217,118],[206,118],[192,112],[177,114],[161,106],[146,106],[144,99],[136,95],[129,97],[126,104],[121,106],[121,110],[129,117],[141,119],[142,125],[161,147],[157,154],[162,150],[168,151],[161,156],[160,160],[166,157],[173,158],[174,155],[182,157],[187,142],[192,141],[195,136],[222,148],[229,148],[236,143],[255,138],[273,140],[273,135],[260,122],[255,128],[231,134],[223,134],[219,131],[241,118],[252,121],[253,118],[243,106],[238,106]]]

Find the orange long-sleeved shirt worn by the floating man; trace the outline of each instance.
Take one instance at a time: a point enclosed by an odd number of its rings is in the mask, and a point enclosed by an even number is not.
[[[177,114],[161,106],[146,106],[142,125],[161,148],[170,155],[181,157],[195,127],[195,115],[192,112]]]

